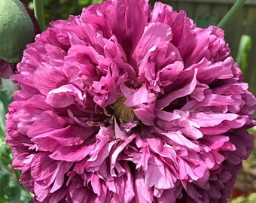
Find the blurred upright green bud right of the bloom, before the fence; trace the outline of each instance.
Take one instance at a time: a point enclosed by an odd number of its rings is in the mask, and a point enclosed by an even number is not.
[[[242,35],[239,43],[236,62],[243,73],[248,66],[248,55],[251,51],[251,42],[252,40],[250,36]]]

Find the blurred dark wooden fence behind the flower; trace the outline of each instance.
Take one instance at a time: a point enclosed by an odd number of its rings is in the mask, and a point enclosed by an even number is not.
[[[172,5],[173,10],[185,10],[187,16],[195,19],[198,15],[205,17],[215,14],[218,23],[235,0],[161,0]],[[256,0],[247,0],[244,7],[225,28],[225,38],[230,44],[231,54],[236,58],[237,48],[242,35],[250,35],[252,48],[248,59],[248,68],[244,80],[249,83],[250,90],[256,95]]]

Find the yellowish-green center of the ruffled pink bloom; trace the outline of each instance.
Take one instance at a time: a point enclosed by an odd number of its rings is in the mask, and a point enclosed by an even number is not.
[[[121,123],[127,123],[130,120],[134,119],[133,109],[127,108],[124,105],[126,98],[124,96],[117,98],[117,101],[114,102],[114,116],[120,120]]]

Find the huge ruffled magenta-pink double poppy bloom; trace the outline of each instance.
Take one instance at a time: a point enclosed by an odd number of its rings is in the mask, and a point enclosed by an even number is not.
[[[107,0],[29,44],[7,143],[35,202],[226,202],[255,98],[224,32]]]

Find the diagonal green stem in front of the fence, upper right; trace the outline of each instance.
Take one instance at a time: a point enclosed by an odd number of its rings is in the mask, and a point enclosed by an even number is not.
[[[218,27],[224,29],[224,27],[227,26],[227,24],[230,23],[230,20],[232,20],[232,18],[236,15],[236,13],[241,10],[242,6],[245,4],[245,1],[246,0],[236,0],[236,3],[232,8],[230,8],[230,11],[228,11],[227,14],[222,18],[221,22],[218,23]]]

